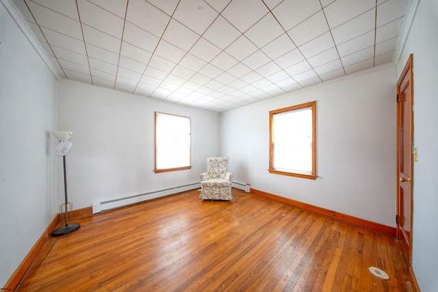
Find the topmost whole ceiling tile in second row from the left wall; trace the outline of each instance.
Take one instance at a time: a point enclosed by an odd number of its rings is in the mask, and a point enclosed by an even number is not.
[[[44,8],[42,5],[32,1],[29,1],[28,5],[38,25],[70,36],[71,38],[76,38],[77,40],[82,39],[81,24],[79,21],[48,8]]]

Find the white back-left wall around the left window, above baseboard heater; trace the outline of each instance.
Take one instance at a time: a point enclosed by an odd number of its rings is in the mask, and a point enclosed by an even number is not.
[[[74,132],[66,155],[73,209],[198,183],[207,157],[219,155],[216,113],[75,82],[61,81],[58,87],[59,129]],[[191,170],[153,172],[155,111],[191,118]]]

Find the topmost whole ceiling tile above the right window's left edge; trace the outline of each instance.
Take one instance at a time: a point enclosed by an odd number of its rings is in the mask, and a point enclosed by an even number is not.
[[[284,34],[284,32],[283,27],[279,25],[274,16],[268,13],[258,23],[248,29],[245,32],[245,36],[257,47],[261,48],[281,36],[281,34]]]

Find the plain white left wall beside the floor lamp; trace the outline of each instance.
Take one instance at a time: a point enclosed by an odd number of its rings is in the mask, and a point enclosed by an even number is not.
[[[0,287],[57,213],[56,79],[0,2]]]

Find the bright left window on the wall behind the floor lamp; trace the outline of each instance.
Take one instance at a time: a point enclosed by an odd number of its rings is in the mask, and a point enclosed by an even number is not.
[[[155,172],[189,170],[190,118],[155,111]]]

